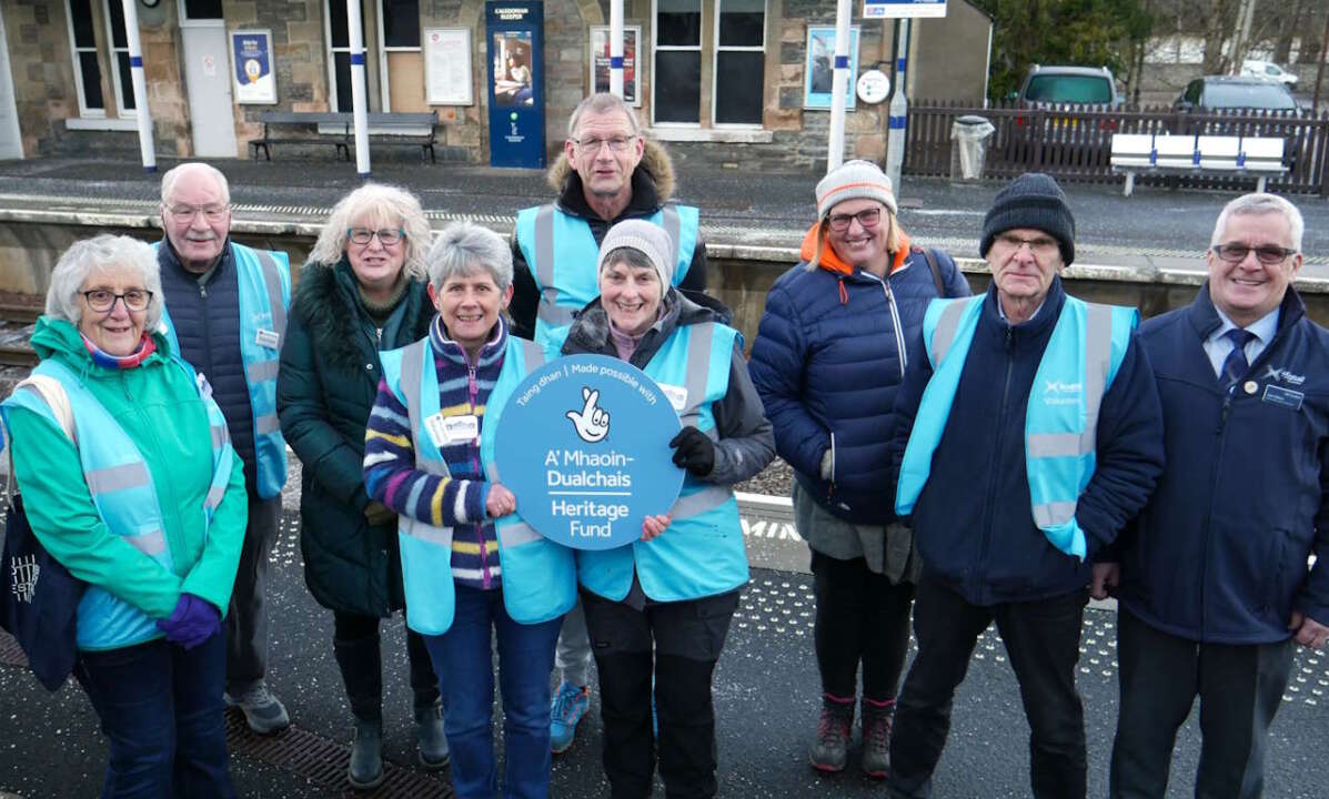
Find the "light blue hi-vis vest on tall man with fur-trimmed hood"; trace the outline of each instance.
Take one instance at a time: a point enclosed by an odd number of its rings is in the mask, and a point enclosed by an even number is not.
[[[674,242],[672,283],[680,285],[696,248],[698,210],[667,203],[643,219],[663,227]],[[565,214],[554,204],[517,212],[517,246],[540,288],[536,341],[548,349],[553,330],[566,328],[574,312],[599,296],[595,269],[599,246],[585,219]]]

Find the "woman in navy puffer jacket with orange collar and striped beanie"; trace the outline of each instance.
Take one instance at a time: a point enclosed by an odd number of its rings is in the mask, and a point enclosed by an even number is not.
[[[968,296],[956,263],[913,247],[876,165],[849,161],[816,187],[803,263],[771,288],[752,381],[793,466],[793,511],[812,549],[821,713],[809,759],[841,771],[863,705],[863,771],[889,768],[918,557],[893,512],[886,454],[896,389],[934,297]],[[859,693],[859,670],[863,693]]]

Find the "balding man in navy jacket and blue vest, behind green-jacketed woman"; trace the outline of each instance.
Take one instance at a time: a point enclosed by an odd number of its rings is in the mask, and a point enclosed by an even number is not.
[[[264,682],[267,561],[276,539],[286,484],[286,442],[276,421],[276,365],[286,333],[291,276],[284,252],[230,240],[230,188],[206,163],[162,175],[158,244],[162,321],[181,356],[207,377],[245,461],[249,527],[226,615],[226,702],[245,711],[255,733],[290,723]]]

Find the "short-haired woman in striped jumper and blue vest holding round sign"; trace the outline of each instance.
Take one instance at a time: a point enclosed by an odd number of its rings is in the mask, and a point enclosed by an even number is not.
[[[532,535],[517,498],[486,475],[486,419],[529,369],[532,342],[508,334],[512,254],[485,228],[457,223],[425,257],[439,316],[427,338],[383,353],[369,417],[369,496],[401,514],[407,625],[425,637],[447,698],[452,787],[498,794],[493,749],[493,649],[504,709],[502,795],[549,794],[549,673],[573,607],[571,549]]]

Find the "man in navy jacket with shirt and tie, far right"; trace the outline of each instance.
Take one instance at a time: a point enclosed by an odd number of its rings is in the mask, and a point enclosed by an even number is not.
[[[1280,196],[1232,200],[1195,301],[1140,327],[1167,467],[1094,567],[1096,595],[1119,583],[1112,796],[1167,792],[1196,695],[1195,795],[1259,796],[1294,644],[1329,638],[1329,330],[1290,285],[1302,230]]]

